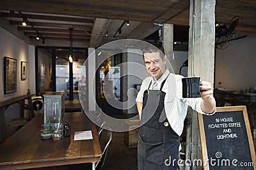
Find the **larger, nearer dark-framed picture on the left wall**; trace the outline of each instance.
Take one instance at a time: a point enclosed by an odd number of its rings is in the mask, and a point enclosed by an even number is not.
[[[17,60],[4,57],[4,94],[17,90]]]

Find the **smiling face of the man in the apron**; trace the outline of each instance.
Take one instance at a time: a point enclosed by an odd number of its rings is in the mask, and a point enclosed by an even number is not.
[[[148,73],[157,81],[166,69],[166,55],[162,59],[159,52],[144,53],[144,61]]]

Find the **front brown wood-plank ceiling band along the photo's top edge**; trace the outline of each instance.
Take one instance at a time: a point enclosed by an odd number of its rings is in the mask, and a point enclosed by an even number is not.
[[[1,10],[15,10],[23,12],[47,13],[55,15],[71,15],[80,17],[111,18],[116,20],[133,20],[140,22],[156,22],[174,25],[188,25],[189,21],[189,0],[58,0],[58,1],[31,1],[31,0],[13,0],[3,1]],[[29,4],[29,8],[28,8]],[[239,15],[244,17],[255,26],[253,18],[255,17],[254,1],[239,0],[216,0],[216,19],[222,22],[218,15],[231,16]],[[62,17],[62,16],[61,16]],[[246,30],[246,29],[244,29]],[[252,29],[249,29],[252,30]]]

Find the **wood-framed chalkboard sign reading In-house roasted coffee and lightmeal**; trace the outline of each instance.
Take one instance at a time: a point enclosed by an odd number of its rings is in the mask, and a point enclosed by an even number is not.
[[[198,122],[204,169],[256,169],[246,106],[220,107],[211,116],[198,113]]]

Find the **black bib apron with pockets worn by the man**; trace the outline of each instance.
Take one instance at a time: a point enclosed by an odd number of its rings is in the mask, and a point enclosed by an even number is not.
[[[166,78],[167,79],[167,78]],[[170,127],[164,110],[165,92],[148,90],[143,94],[141,126],[138,139],[138,169],[177,169],[179,135]],[[176,159],[176,161],[173,161]],[[171,162],[170,162],[171,161]],[[174,162],[174,164],[173,164]]]

